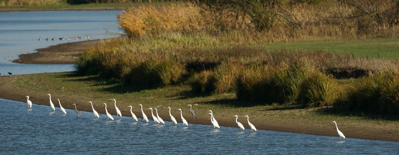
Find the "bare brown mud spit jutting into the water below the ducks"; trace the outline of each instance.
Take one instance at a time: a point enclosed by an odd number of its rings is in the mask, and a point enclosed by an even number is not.
[[[81,42],[69,42],[58,44],[48,48],[37,49],[38,52],[32,54],[21,54],[14,63],[30,64],[74,64],[79,55],[89,46],[95,46],[101,40],[89,40]]]

